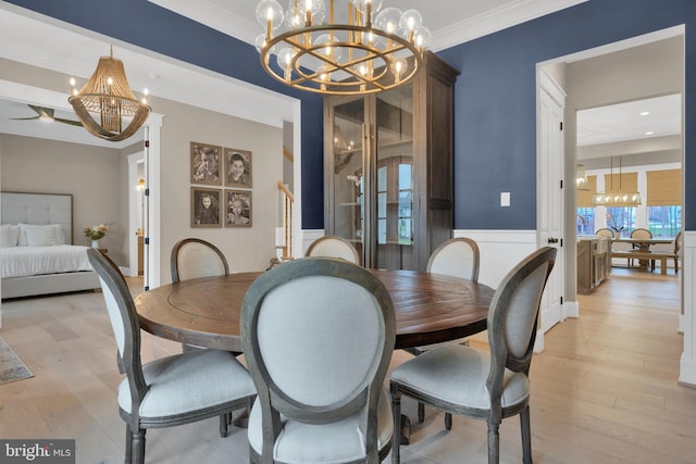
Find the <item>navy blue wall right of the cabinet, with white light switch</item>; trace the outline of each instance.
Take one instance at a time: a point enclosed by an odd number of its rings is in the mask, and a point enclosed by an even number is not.
[[[592,0],[442,51],[461,72],[455,91],[455,228],[536,229],[536,63],[679,24],[688,32],[695,12],[693,0]],[[696,76],[694,47],[687,35],[688,90]],[[696,111],[688,101],[687,123]],[[686,147],[694,147],[686,127]],[[694,178],[693,165],[685,163],[685,170]],[[511,208],[500,208],[501,191],[511,192]],[[687,200],[693,193],[686,184]],[[693,216],[688,206],[694,204],[687,201],[686,218]],[[696,222],[686,225],[693,229]]]

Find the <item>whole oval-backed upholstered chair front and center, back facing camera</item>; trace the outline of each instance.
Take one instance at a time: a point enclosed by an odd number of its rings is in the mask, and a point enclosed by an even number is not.
[[[391,446],[384,379],[396,340],[391,299],[369,271],[332,258],[260,276],[241,309],[258,397],[254,463],[377,463]]]

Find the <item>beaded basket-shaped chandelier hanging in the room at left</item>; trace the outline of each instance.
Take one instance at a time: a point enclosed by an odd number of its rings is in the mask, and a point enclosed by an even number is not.
[[[113,47],[109,57],[101,57],[97,70],[78,91],[75,79],[70,79],[71,97],[75,114],[83,126],[92,135],[109,141],[125,140],[134,135],[150,114],[147,90],[139,101],[126,78],[123,62],[113,58]],[[90,113],[99,115],[97,121]],[[130,117],[123,128],[126,117]]]

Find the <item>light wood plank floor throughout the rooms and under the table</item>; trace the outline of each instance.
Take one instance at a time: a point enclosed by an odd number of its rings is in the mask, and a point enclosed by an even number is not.
[[[679,296],[674,274],[614,269],[580,298],[580,318],[546,335],[531,372],[536,463],[696,462],[696,389],[678,384]],[[75,438],[78,463],[123,462],[120,375],[101,293],[5,301],[0,335],[35,374],[0,386],[0,437]],[[179,349],[144,335],[144,361]],[[393,363],[407,356],[395,352]],[[403,409],[415,422],[414,404]],[[217,419],[147,437],[148,463],[248,462],[245,430],[222,439]],[[486,426],[455,417],[446,432],[443,415],[426,410],[401,450],[403,463],[484,463]],[[521,456],[513,417],[501,426],[501,461]]]

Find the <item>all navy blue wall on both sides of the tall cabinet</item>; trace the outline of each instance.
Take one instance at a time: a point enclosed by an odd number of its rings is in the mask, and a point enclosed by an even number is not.
[[[321,98],[294,92],[264,74],[256,50],[146,0],[10,0],[21,7],[302,100],[302,227],[323,228]],[[114,21],[122,18],[122,21]],[[461,71],[455,105],[455,227],[536,228],[536,76],[538,62],[686,24],[686,178],[696,178],[694,0],[591,0],[450,48]],[[694,149],[692,149],[694,151]],[[695,152],[696,153],[696,152]],[[696,185],[685,183],[686,229],[696,229]],[[501,191],[511,206],[499,206]],[[689,214],[691,208],[695,214]]]

